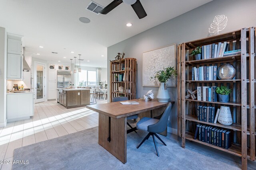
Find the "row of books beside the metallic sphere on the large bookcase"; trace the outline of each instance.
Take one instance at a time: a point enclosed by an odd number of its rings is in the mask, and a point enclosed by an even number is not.
[[[216,80],[217,66],[200,66],[192,68],[192,80]]]

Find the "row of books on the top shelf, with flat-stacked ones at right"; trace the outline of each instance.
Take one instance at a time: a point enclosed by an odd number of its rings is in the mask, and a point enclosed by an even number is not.
[[[210,44],[210,45],[203,45],[202,46],[202,59],[211,59],[217,57],[223,57],[226,55],[233,55],[241,53],[241,50],[229,50],[229,43],[224,41],[223,43],[218,44]]]

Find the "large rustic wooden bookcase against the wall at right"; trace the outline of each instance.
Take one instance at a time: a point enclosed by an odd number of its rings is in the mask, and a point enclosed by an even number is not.
[[[255,160],[255,27],[224,33],[188,43],[178,45],[178,135],[182,137],[182,147],[185,148],[186,139],[208,147],[212,147],[242,158],[242,169],[247,169],[247,158]],[[213,59],[194,60],[189,54],[193,49],[203,45],[227,41],[232,50],[233,42],[241,49],[241,54],[230,55]],[[246,41],[249,42],[246,46]],[[249,46],[249,47],[248,47]],[[249,49],[246,52],[246,47]],[[210,66],[223,63],[230,63],[236,68],[234,80],[192,80],[193,66]],[[229,86],[232,89],[229,103],[206,102],[186,99],[187,89],[196,90],[197,86]],[[196,106],[214,106],[220,108],[227,105],[232,112],[234,123],[225,126],[220,123],[208,123],[199,121],[196,117]],[[197,124],[211,125],[227,129],[232,132],[232,146],[224,149],[194,139],[195,127]],[[248,140],[247,140],[248,139]],[[248,145],[248,143],[250,145]]]

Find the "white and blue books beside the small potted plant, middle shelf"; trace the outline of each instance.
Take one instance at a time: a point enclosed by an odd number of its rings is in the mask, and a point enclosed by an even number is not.
[[[197,100],[217,102],[216,86],[197,86]]]

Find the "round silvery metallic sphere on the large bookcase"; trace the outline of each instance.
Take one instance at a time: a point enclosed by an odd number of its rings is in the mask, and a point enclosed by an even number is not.
[[[220,80],[231,80],[236,75],[236,68],[229,63],[222,64],[217,70],[217,76]]]

